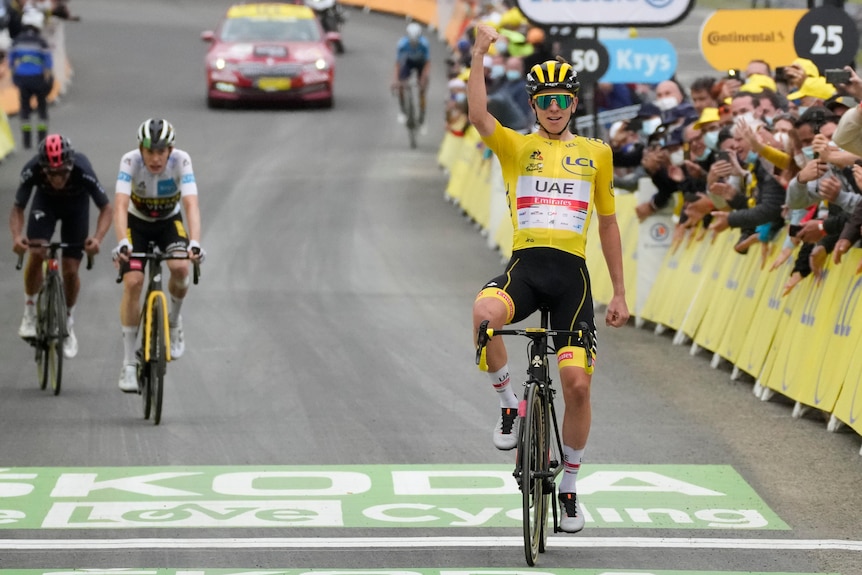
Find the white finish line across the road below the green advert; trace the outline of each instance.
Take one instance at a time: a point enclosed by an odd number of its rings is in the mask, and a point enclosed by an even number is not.
[[[328,537],[205,539],[0,539],[3,551],[115,549],[343,549],[427,547],[520,547],[520,537]],[[860,551],[862,541],[840,539],[720,539],[696,537],[553,537],[548,547],[675,549],[767,549]]]

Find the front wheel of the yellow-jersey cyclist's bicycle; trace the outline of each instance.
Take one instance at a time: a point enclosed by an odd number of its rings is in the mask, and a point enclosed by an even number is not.
[[[545,491],[548,448],[545,441],[545,416],[539,386],[531,384],[527,391],[527,405],[522,431],[521,499],[524,524],[524,556],[533,566],[544,550],[545,525],[548,517],[548,494]]]

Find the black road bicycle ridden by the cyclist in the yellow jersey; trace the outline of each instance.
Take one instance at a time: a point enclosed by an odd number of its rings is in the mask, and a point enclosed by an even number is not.
[[[588,374],[594,369],[590,350],[595,347],[593,332],[585,322],[581,322],[574,331],[552,330],[549,328],[550,313],[542,308],[540,326],[495,330],[488,327],[487,321],[483,321],[479,325],[476,342],[476,364],[482,371],[487,371],[485,348],[492,337],[520,335],[530,340],[527,345],[527,379],[524,382],[523,399],[518,406],[521,425],[518,430],[515,470],[512,473],[521,491],[524,555],[530,566],[536,564],[539,553],[545,552],[549,505],[553,509],[553,531],[560,531],[555,480],[563,471],[563,442],[554,408],[557,390],[553,387],[548,367],[548,354],[556,353],[553,337],[574,336],[580,340],[587,350],[584,368]]]

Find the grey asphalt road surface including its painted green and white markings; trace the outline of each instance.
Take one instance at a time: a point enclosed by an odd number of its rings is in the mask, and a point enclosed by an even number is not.
[[[171,120],[209,257],[155,427],[117,389],[113,232],[82,272],[80,353],[57,397],[16,336],[7,239],[0,575],[523,571],[513,455],[491,444],[497,400],[470,341],[473,296],[502,264],[444,200],[443,47],[430,130],[410,150],[389,93],[401,19],[350,11],[332,110],[210,111],[200,33],[224,3],[74,8],[75,76],[51,129],[112,191],[138,124]],[[684,30],[669,32],[678,47],[696,41]],[[0,165],[7,207],[26,159]],[[862,572],[858,435],[793,419],[669,335],[629,325],[600,341],[587,529],[552,536],[541,570]]]

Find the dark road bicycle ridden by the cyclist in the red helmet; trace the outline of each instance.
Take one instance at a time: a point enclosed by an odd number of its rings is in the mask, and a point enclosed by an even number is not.
[[[63,340],[69,335],[66,325],[66,292],[63,287],[63,276],[60,273],[60,258],[57,255],[62,249],[80,249],[81,244],[65,242],[30,243],[30,248],[48,250],[48,257],[43,263],[42,286],[36,296],[36,337],[27,338],[36,352],[36,376],[39,389],[48,387],[54,395],[60,394],[63,384]],[[18,256],[16,270],[24,265],[24,254]],[[87,255],[87,269],[93,267],[93,257]]]

